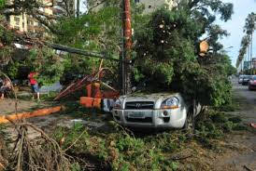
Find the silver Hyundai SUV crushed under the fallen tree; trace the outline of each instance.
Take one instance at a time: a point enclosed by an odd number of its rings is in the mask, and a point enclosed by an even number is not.
[[[114,103],[114,120],[124,126],[145,128],[194,127],[194,117],[201,111],[186,104],[179,93],[121,96]],[[193,114],[194,113],[194,114]]]

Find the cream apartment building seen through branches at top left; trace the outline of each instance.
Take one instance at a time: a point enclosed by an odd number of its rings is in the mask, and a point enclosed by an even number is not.
[[[46,7],[41,7],[39,10],[44,13],[44,15],[53,15],[52,7],[50,7],[51,0],[39,0],[40,3],[46,5]],[[11,4],[12,1],[9,1]],[[44,32],[44,26],[34,19],[32,16],[22,13],[19,16],[8,16],[7,21],[11,28],[17,29],[20,32],[26,33],[40,33]]]

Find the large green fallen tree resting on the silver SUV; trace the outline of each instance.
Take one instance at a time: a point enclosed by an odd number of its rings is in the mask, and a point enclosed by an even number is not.
[[[228,33],[213,23],[214,14],[208,8],[219,12],[220,19],[229,20],[233,7],[207,2],[181,1],[172,11],[158,10],[144,29],[136,32],[135,85],[145,82],[147,91],[178,91],[203,105],[221,106],[231,101],[231,60],[220,52],[218,42]],[[204,35],[210,51],[201,57],[198,48]]]

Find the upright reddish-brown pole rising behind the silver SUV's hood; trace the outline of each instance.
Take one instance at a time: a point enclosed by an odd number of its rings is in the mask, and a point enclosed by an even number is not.
[[[131,83],[131,49],[132,49],[132,24],[130,0],[122,0],[123,7],[123,60],[122,63],[122,94],[129,94],[132,90]]]

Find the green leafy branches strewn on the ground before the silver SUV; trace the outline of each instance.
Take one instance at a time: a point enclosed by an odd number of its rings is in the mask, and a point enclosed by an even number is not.
[[[113,170],[178,170],[186,167],[180,160],[194,153],[179,157],[175,154],[186,150],[190,144],[197,143],[210,151],[220,151],[215,139],[244,128],[240,125],[240,118],[227,116],[223,112],[209,111],[204,117],[197,123],[193,135],[184,130],[130,131],[109,119],[107,125],[98,129],[81,123],[76,123],[70,129],[58,127],[53,138],[64,149],[73,144],[67,153],[84,156],[82,161],[87,164],[92,162],[93,156],[93,162],[96,160],[106,166],[110,164]],[[77,161],[80,170],[86,169],[82,161]]]

